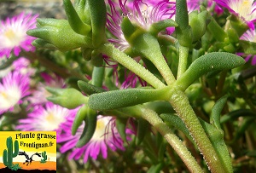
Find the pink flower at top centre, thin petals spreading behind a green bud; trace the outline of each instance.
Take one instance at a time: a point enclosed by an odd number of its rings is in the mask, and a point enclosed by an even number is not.
[[[108,3],[110,13],[108,13],[107,27],[113,36],[116,37],[109,39],[109,42],[113,43],[121,51],[129,48],[129,43],[126,42],[121,30],[120,24],[123,16],[119,13],[119,9],[133,24],[143,27],[145,30],[148,30],[149,26],[155,22],[171,19],[175,14],[175,3],[168,0],[161,0],[159,2],[134,0],[132,3],[127,0],[123,3],[122,0],[119,0],[119,5],[108,0]]]

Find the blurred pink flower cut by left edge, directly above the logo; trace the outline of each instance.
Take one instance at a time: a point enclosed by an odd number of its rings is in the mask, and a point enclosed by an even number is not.
[[[29,78],[20,72],[9,72],[0,83],[0,114],[12,111],[22,98],[29,95]]]

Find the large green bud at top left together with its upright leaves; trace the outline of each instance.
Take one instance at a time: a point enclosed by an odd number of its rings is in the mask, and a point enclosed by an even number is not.
[[[104,0],[63,0],[67,20],[38,19],[36,29],[28,35],[41,38],[33,45],[68,51],[80,47],[96,49],[107,38],[107,9]]]

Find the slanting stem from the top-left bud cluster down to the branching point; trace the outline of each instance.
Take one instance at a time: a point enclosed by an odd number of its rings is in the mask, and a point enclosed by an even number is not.
[[[113,60],[118,61],[119,64],[131,70],[131,72],[136,73],[138,77],[143,78],[143,80],[145,80],[148,84],[151,84],[154,88],[163,88],[166,86],[144,66],[137,63],[137,61],[133,60],[130,56],[121,52],[119,49],[114,48],[113,44],[103,44],[98,50],[101,51],[102,54],[112,57]]]

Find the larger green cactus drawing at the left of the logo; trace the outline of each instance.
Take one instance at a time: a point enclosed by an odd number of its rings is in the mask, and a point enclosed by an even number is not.
[[[11,136],[9,136],[6,139],[6,146],[7,150],[3,150],[3,164],[7,166],[9,169],[12,169],[12,167],[14,166],[13,159],[19,153],[19,143],[17,140],[15,140],[15,153],[13,153],[13,139]]]

